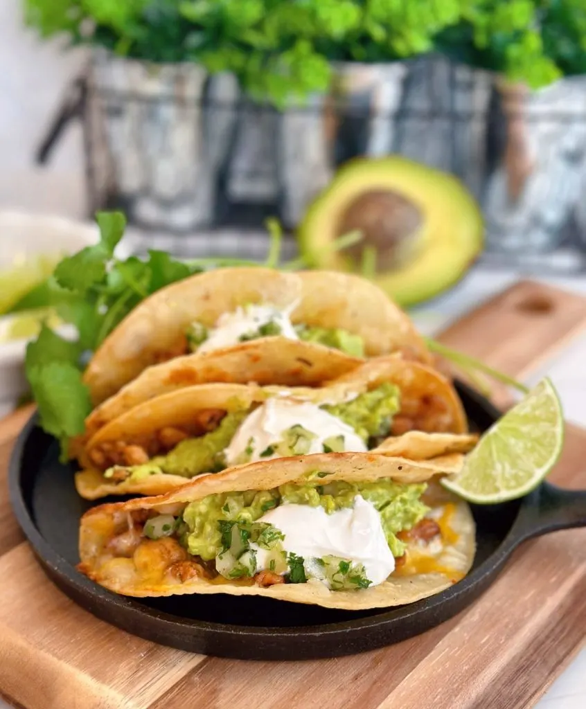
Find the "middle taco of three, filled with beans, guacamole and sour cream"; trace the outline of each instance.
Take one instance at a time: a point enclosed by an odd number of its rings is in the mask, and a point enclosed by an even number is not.
[[[157,495],[255,460],[365,452],[407,430],[461,434],[466,419],[447,379],[396,356],[372,359],[322,389],[201,384],[145,401],[100,428],[79,455],[86,469],[75,481],[87,499]],[[474,441],[443,445],[470,450]],[[402,452],[410,457],[409,445]]]

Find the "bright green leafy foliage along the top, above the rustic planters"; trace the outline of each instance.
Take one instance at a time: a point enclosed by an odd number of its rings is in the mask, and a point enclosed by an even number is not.
[[[438,50],[538,87],[586,72],[584,0],[24,0],[66,33],[150,62],[231,71],[278,105],[326,91],[332,61]]]

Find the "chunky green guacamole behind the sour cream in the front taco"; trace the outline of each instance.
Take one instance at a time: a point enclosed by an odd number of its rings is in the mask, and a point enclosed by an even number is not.
[[[185,530],[182,542],[190,554],[205,561],[216,558],[223,548],[221,522],[236,520],[252,523],[268,510],[282,503],[316,507],[321,505],[328,514],[343,507],[351,507],[354,498],[362,495],[380,513],[389,549],[395,557],[404,554],[405,545],[397,532],[414,527],[428,511],[421,502],[425,484],[404,485],[390,479],[372,483],[353,484],[342,481],[327,482],[327,476],[316,472],[304,485],[286,484],[279,488],[240,493],[218,493],[189,503],[183,512]]]

